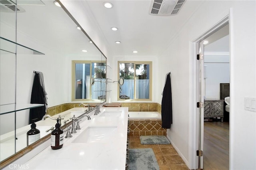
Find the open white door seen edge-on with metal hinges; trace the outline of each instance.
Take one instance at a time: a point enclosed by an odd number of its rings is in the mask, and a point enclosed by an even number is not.
[[[199,141],[198,141],[198,168],[204,168],[204,43],[199,43]]]

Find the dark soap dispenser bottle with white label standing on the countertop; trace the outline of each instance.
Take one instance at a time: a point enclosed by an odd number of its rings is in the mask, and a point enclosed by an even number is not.
[[[64,133],[63,130],[60,129],[59,120],[57,119],[57,123],[55,125],[55,129],[51,134],[51,148],[52,149],[60,149],[63,146]]]

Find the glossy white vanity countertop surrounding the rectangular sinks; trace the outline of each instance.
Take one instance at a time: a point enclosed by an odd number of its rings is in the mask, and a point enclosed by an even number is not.
[[[106,116],[121,112],[119,117]],[[72,134],[72,138],[64,138],[63,147],[52,150],[48,146],[34,158],[24,163],[26,169],[31,170],[124,170],[126,164],[126,141],[128,128],[127,107],[103,107],[101,113],[93,115],[89,113],[91,120],[84,117],[80,122],[81,130]],[[73,141],[88,127],[116,127],[107,142],[84,142]],[[106,127],[107,128],[107,127]],[[66,132],[64,132],[66,135]],[[65,136],[64,135],[64,136]]]

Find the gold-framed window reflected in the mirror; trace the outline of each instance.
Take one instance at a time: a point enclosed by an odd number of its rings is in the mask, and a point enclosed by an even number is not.
[[[72,101],[106,99],[106,62],[72,61]]]

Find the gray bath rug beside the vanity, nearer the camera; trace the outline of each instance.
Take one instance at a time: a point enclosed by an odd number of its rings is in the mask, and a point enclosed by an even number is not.
[[[160,170],[152,148],[129,149],[128,170]]]

